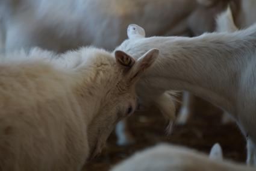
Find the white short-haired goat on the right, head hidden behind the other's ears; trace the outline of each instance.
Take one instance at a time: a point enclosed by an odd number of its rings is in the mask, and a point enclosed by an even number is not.
[[[132,26],[133,30],[142,29]],[[223,108],[248,139],[247,162],[256,165],[256,108],[252,105],[256,102],[255,37],[253,25],[234,33],[209,33],[195,38],[128,39],[117,49],[136,58],[148,49],[160,49],[160,58],[137,84],[142,101],[154,102],[170,89],[187,90]]]

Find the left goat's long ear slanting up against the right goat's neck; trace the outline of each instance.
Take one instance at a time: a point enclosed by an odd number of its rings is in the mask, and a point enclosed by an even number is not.
[[[140,57],[130,70],[130,81],[136,81],[142,73],[146,71],[155,62],[159,54],[158,49],[150,49]]]

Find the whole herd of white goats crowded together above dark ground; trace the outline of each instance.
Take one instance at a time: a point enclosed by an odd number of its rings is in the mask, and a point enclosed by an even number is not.
[[[139,103],[156,105],[171,131],[173,91],[233,117],[246,164],[222,159],[219,145],[208,157],[162,144],[111,170],[256,170],[255,7],[255,0],[0,0],[0,170],[82,170]],[[177,122],[188,113],[184,105]],[[119,145],[130,141],[125,125],[117,123]]]

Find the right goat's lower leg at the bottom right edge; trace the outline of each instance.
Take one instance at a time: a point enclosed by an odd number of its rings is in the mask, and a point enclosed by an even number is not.
[[[256,166],[256,146],[248,137],[247,139],[247,160],[249,166]]]

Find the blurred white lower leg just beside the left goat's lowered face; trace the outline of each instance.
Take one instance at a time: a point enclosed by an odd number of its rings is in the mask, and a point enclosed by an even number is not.
[[[116,137],[117,145],[119,146],[131,145],[134,143],[134,138],[128,130],[126,119],[123,119],[117,123]]]

